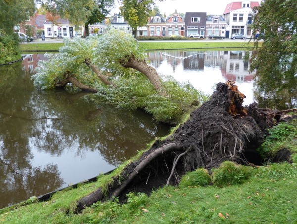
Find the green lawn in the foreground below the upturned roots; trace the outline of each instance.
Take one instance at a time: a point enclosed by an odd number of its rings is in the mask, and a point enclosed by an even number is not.
[[[296,223],[296,179],[296,164],[271,164],[251,168],[250,177],[243,184],[220,188],[192,185],[164,187],[150,196],[130,193],[128,203],[124,205],[117,201],[98,202],[81,214],[73,213],[72,207],[80,194],[89,191],[92,185],[98,186],[98,183],[91,183],[59,192],[46,202],[34,202],[11,211],[2,211],[0,222]]]

